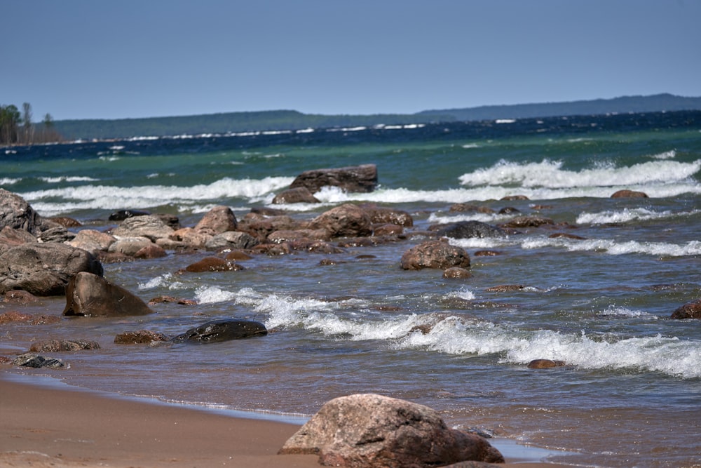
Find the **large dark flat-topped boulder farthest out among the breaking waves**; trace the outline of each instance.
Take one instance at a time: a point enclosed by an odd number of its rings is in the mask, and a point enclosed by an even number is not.
[[[335,169],[305,171],[290,184],[290,189],[306,187],[315,194],[321,187],[339,187],[346,192],[372,192],[377,187],[377,166],[362,164]]]

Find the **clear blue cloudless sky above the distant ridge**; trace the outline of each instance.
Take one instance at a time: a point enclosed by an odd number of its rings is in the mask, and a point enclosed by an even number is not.
[[[34,121],[701,96],[701,0],[0,0]]]

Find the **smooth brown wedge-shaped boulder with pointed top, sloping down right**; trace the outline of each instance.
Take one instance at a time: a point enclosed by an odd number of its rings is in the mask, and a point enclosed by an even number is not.
[[[151,312],[139,297],[95,274],[76,274],[66,288],[66,316],[115,317]]]

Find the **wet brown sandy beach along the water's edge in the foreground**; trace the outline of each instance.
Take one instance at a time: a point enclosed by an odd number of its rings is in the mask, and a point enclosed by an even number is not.
[[[277,455],[302,417],[196,408],[41,382],[44,378],[52,379],[0,371],[3,466],[321,466],[317,455]],[[553,451],[489,440],[502,451],[505,468],[566,466],[542,461]]]

